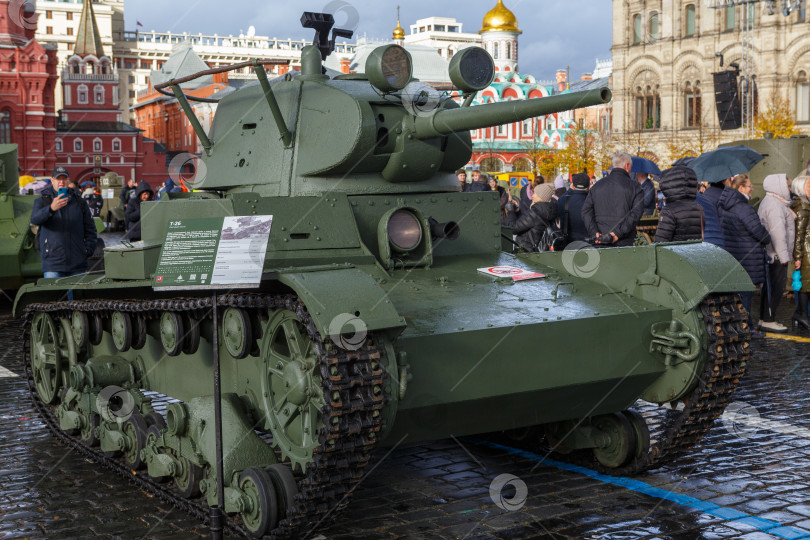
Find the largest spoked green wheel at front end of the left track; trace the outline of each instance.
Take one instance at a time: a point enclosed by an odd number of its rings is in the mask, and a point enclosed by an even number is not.
[[[267,322],[261,352],[267,366],[263,405],[273,445],[293,468],[303,470],[312,461],[323,427],[325,401],[316,373],[315,344],[295,313],[280,310]]]

